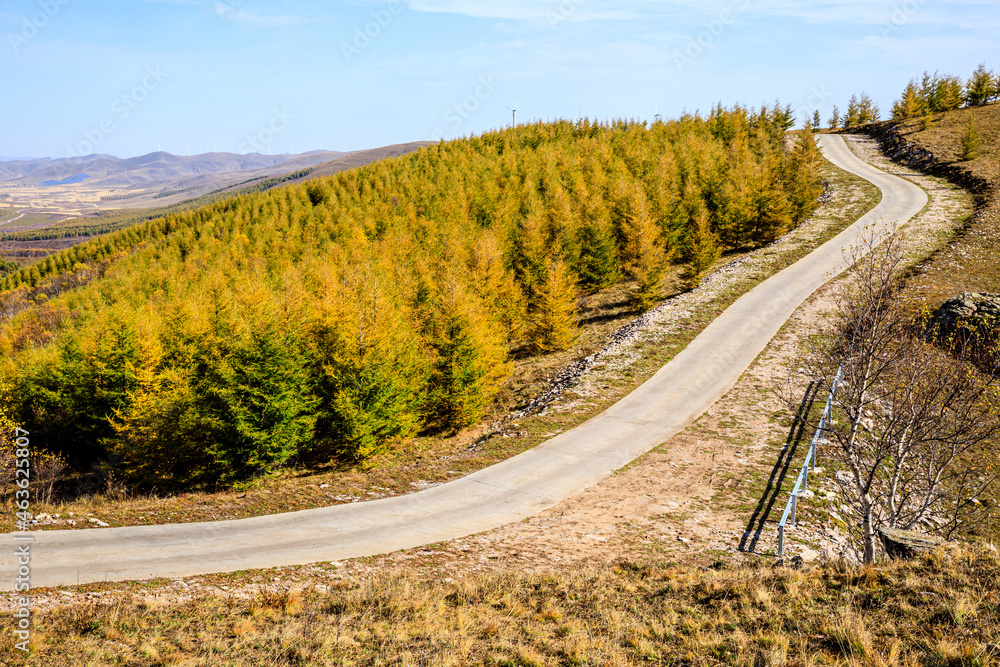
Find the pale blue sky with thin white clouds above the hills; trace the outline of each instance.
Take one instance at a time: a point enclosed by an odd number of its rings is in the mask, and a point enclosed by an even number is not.
[[[0,155],[370,148],[1000,67],[996,0],[2,0]]]

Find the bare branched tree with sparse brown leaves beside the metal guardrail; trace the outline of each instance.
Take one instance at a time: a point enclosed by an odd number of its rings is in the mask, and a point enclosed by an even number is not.
[[[930,517],[946,532],[997,482],[1000,391],[961,351],[928,342],[900,296],[898,235],[869,235],[838,295],[832,335],[812,370],[843,368],[825,456],[856,521],[859,554],[872,563],[880,527],[912,529]]]

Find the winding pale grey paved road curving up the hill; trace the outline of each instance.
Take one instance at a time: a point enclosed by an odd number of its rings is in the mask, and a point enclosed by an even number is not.
[[[927,196],[818,137],[835,165],[875,184],[881,203],[836,238],[744,295],[670,363],[580,426],[462,479],[406,496],[234,521],[0,537],[0,590],[17,545],[30,544],[31,586],[182,577],[387,553],[521,520],[587,488],[682,430],[721,398],[810,295],[846,268],[842,249],[867,225],[903,224]]]

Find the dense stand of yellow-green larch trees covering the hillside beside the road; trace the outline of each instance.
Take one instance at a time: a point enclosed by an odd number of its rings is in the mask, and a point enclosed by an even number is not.
[[[437,144],[129,228],[5,278],[7,407],[78,467],[158,488],[363,460],[490,409],[577,291],[697,280],[816,205],[777,109]],[[95,395],[91,387],[100,387]]]

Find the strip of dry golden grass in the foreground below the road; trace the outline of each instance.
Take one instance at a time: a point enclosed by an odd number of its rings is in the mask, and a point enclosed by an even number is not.
[[[382,573],[320,592],[126,595],[39,613],[27,665],[996,665],[1000,560],[942,551],[878,570]]]

